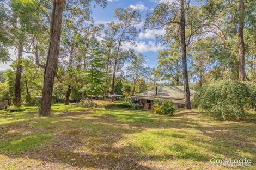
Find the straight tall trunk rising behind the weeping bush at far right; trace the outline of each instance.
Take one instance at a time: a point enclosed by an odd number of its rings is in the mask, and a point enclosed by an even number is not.
[[[245,4],[239,0],[239,29],[238,29],[238,52],[239,52],[239,80],[245,81],[245,42],[243,41],[243,23],[245,18]]]

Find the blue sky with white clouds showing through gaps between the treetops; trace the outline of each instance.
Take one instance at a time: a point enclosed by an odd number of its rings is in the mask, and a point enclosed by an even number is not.
[[[95,6],[92,8],[92,17],[95,21],[95,24],[103,23],[106,24],[110,21],[115,21],[114,18],[114,10],[115,8],[127,8],[131,7],[133,9],[138,9],[141,12],[142,23],[139,24],[138,29],[143,26],[145,21],[145,15],[147,14],[147,10],[150,8],[156,7],[157,4],[161,2],[172,2],[174,0],[108,0],[108,5],[105,8]],[[163,35],[164,30],[146,30],[139,33],[139,36],[136,39],[136,46],[132,46],[130,44],[124,45],[123,48],[135,49],[136,52],[141,52],[147,59],[147,65],[150,67],[157,66],[157,55],[159,51],[165,48],[161,44],[155,43],[155,34]],[[16,59],[16,53],[13,49],[10,51],[11,58]],[[23,54],[26,58],[26,54]],[[0,64],[0,71],[7,70],[11,62],[7,62],[5,64]]]

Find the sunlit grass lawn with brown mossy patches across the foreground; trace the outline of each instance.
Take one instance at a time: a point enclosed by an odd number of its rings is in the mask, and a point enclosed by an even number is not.
[[[256,169],[253,112],[222,121],[193,109],[173,117],[63,104],[39,117],[25,109],[0,111],[0,169]],[[211,158],[252,166],[211,166]]]

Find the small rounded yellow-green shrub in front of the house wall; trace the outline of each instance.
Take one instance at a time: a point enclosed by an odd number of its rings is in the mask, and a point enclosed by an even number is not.
[[[175,106],[172,100],[160,100],[155,101],[156,104],[153,105],[153,112],[156,114],[172,116],[175,112]]]

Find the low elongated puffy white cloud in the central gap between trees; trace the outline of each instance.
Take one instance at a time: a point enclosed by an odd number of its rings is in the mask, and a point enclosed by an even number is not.
[[[136,46],[133,46],[131,43],[127,42],[123,45],[124,49],[134,49],[136,52],[143,53],[143,52],[158,52],[164,48],[164,46],[157,44],[153,41],[149,41],[148,43],[139,41],[136,42]]]

